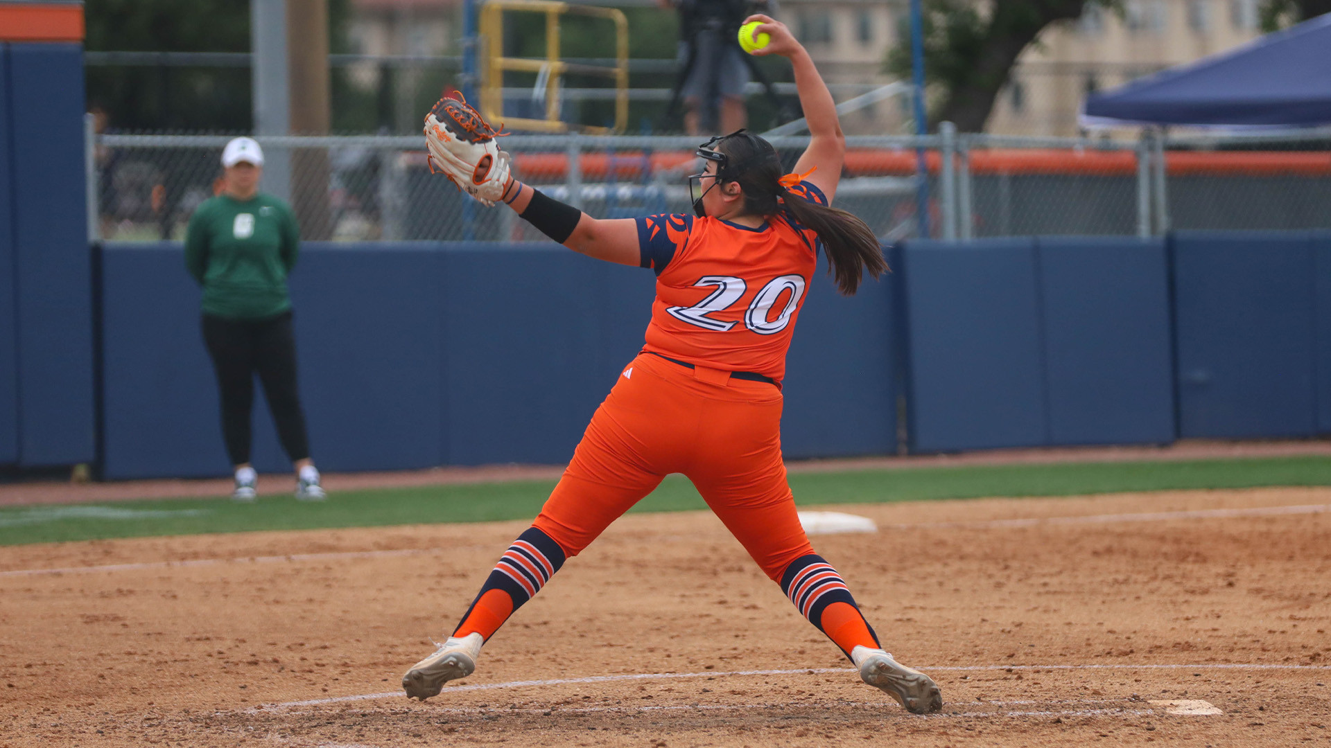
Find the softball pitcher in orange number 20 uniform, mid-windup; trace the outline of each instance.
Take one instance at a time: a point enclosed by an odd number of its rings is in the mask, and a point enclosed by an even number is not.
[[[845,582],[813,552],[781,462],[785,353],[817,262],[841,293],[886,262],[873,232],[831,208],[845,154],[832,94],[808,52],[767,16],[761,53],[788,57],[811,140],[781,174],[776,150],[747,132],[697,149],[696,216],[596,220],[511,178],[496,134],[461,100],[426,117],[431,166],[478,200],[506,202],[556,242],[650,268],[656,301],[642,353],[596,410],[572,462],[532,523],[508,547],[453,636],[402,677],[427,699],[475,669],[480,647],[559,571],[669,472],[687,475],[725,527],[860,677],[916,713],[942,707],[934,681],[878,643]]]

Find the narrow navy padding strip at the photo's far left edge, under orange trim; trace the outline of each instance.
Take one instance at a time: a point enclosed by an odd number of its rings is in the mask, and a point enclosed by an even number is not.
[[[9,45],[0,44],[0,465],[19,462],[19,329],[9,169]]]

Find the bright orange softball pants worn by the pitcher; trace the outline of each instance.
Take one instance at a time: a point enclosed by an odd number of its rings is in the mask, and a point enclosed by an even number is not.
[[[813,552],[781,462],[781,391],[646,353],[596,409],[534,524],[575,556],[669,472],[693,482],[773,580]]]

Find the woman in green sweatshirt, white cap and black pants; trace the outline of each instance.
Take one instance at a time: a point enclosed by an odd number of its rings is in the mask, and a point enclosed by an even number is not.
[[[322,500],[297,391],[295,337],[286,274],[301,237],[291,208],[258,192],[264,152],[248,137],[222,150],[222,192],[204,201],[185,232],[185,266],[204,286],[204,343],[221,390],[222,437],[236,468],[232,498],[256,499],[250,466],[254,375],[297,472],[295,498]]]

